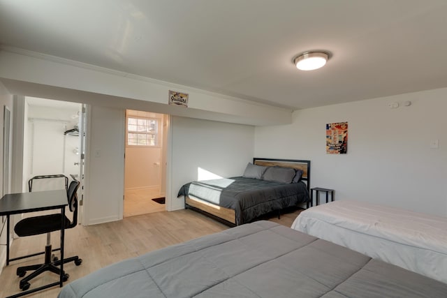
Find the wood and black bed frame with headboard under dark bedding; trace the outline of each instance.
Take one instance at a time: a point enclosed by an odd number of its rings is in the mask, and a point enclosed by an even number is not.
[[[291,167],[295,170],[302,170],[302,181],[307,185],[307,191],[310,193],[310,161],[295,160],[295,159],[277,159],[277,158],[253,158],[254,165],[262,165],[265,167],[273,167],[278,165],[280,167]],[[234,209],[221,207],[217,204],[205,202],[198,198],[190,198],[185,196],[184,207],[198,211],[201,214],[209,216],[225,225],[234,227],[236,225],[236,214]],[[309,202],[307,202],[309,208]],[[279,211],[280,212],[280,211]]]

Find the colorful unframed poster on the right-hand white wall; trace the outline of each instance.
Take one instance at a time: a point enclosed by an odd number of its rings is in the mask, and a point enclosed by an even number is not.
[[[348,122],[326,124],[326,154],[348,153]]]

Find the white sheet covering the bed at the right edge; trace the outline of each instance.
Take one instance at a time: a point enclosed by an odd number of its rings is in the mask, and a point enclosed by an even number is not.
[[[291,228],[447,283],[447,218],[342,200],[302,211]]]

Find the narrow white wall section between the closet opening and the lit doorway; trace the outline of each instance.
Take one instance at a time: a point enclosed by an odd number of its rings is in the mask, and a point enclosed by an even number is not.
[[[124,110],[89,110],[84,225],[122,219],[124,195]]]

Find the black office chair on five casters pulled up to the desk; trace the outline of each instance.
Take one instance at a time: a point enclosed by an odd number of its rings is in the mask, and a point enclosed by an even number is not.
[[[78,224],[78,197],[76,195],[76,191],[78,191],[79,184],[79,181],[71,181],[70,186],[68,186],[67,189],[68,208],[71,212],[73,212],[73,220],[70,221],[66,216],[64,216],[64,226],[66,229],[74,228]],[[29,281],[45,271],[52,271],[55,274],[60,274],[61,269],[58,266],[61,265],[61,261],[52,260],[50,232],[61,230],[61,224],[61,214],[48,214],[24,218],[15,225],[14,231],[20,237],[47,233],[45,263],[17,268],[17,276],[20,277],[27,274],[27,271],[35,270],[29,274],[29,276],[22,278],[20,281],[20,289],[28,290],[30,286]],[[82,259],[80,259],[77,255],[71,258],[64,258],[64,264],[73,261],[75,262],[76,266],[79,266],[82,263]],[[67,281],[69,275],[65,272],[63,272],[63,274],[63,280]]]

